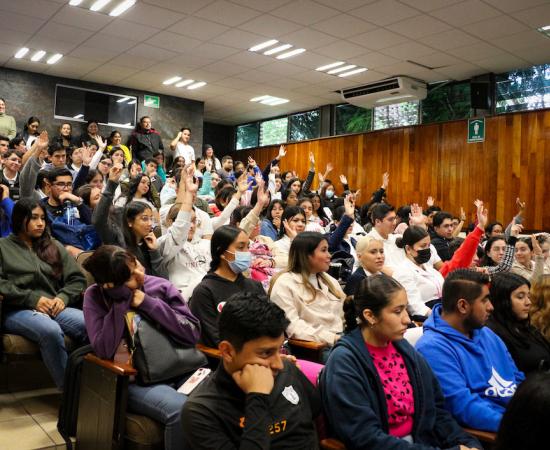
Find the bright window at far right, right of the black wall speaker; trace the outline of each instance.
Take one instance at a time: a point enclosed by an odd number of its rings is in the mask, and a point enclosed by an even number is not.
[[[550,107],[550,64],[497,76],[497,113]]]

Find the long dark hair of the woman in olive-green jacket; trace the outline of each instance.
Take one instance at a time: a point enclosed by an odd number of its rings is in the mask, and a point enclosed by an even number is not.
[[[44,233],[39,238],[32,240],[32,249],[42,261],[52,267],[53,276],[60,279],[63,275],[63,263],[61,261],[61,253],[51,238],[49,229],[50,221],[44,206],[33,198],[22,198],[13,207],[11,215],[11,228],[16,236],[27,233],[27,224],[32,218],[32,211],[35,208],[40,208],[44,213],[46,227]]]

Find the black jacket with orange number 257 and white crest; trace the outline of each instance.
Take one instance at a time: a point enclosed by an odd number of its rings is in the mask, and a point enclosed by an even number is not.
[[[245,394],[220,364],[183,406],[183,448],[318,449],[313,419],[319,412],[319,394],[289,362],[269,395]]]

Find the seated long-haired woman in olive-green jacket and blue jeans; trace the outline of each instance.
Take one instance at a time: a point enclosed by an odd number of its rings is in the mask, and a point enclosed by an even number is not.
[[[12,212],[13,233],[0,239],[0,295],[4,332],[36,342],[56,386],[63,387],[66,333],[87,340],[80,301],[86,279],[65,247],[50,237],[43,204],[19,200]]]

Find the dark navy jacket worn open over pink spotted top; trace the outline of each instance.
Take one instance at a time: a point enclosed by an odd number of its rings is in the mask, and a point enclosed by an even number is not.
[[[445,410],[432,370],[406,340],[393,342],[403,356],[414,393],[414,444],[389,434],[386,396],[359,328],[334,346],[321,374],[323,407],[335,437],[347,450],[482,448]]]

